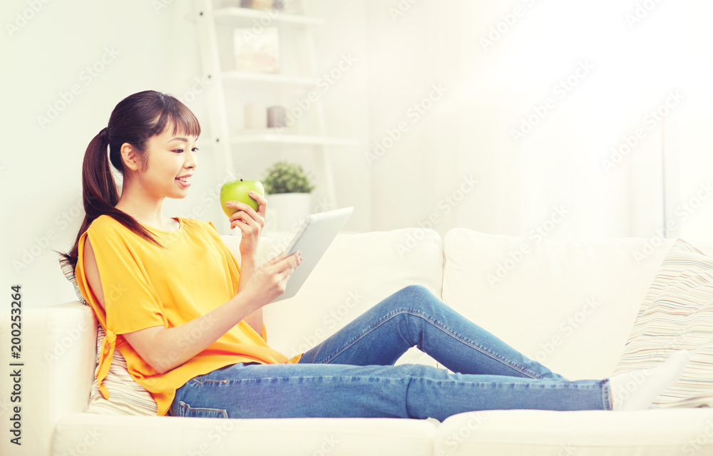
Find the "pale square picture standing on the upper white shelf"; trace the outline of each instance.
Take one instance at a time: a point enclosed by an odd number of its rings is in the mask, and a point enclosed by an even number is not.
[[[235,28],[235,69],[252,73],[279,73],[279,35],[277,27],[260,33],[252,28]]]

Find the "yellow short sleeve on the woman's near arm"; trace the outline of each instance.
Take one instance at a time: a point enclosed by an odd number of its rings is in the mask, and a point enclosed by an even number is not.
[[[118,222],[113,222],[118,224]],[[106,306],[106,326],[115,334],[151,326],[168,328],[163,304],[127,233],[109,223],[88,229]],[[83,273],[83,272],[82,272]]]

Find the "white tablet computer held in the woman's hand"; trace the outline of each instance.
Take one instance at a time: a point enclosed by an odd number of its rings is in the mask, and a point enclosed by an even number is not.
[[[339,230],[344,227],[349,217],[352,216],[352,212],[354,212],[354,207],[350,206],[333,211],[319,212],[304,219],[302,227],[299,228],[292,242],[289,243],[287,248],[284,249],[284,254],[282,254],[282,258],[284,258],[289,257],[294,252],[302,252],[302,263],[297,266],[292,276],[289,276],[284,293],[271,302],[292,298],[297,294],[304,281],[312,273],[314,266],[317,266],[319,259],[322,258],[324,252],[327,252],[327,248],[339,234]]]

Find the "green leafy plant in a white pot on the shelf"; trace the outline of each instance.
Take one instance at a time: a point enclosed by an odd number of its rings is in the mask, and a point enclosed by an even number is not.
[[[296,231],[309,215],[314,183],[299,163],[276,162],[262,177],[267,195],[268,220],[277,231]]]

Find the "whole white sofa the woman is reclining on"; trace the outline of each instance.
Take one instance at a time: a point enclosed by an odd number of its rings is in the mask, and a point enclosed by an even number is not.
[[[240,239],[224,237],[239,254]],[[287,236],[264,238],[261,258]],[[614,370],[673,239],[568,242],[452,229],[340,234],[293,299],[265,308],[268,342],[302,352],[404,286],[420,284],[464,316],[572,380]],[[654,245],[652,245],[654,244]],[[695,244],[695,243],[694,243]],[[709,245],[695,244],[710,253]],[[70,284],[67,284],[70,287]],[[48,303],[52,304],[52,303]],[[0,318],[0,363],[9,316]],[[96,319],[79,301],[23,313],[21,446],[11,444],[0,376],[1,455],[711,455],[713,410],[491,410],[437,420],[217,420],[86,413]],[[412,348],[399,363],[426,363]]]

